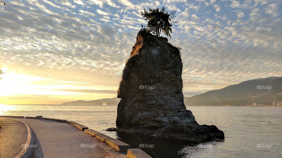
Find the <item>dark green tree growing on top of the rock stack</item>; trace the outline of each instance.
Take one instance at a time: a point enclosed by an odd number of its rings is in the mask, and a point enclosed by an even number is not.
[[[160,33],[163,32],[164,35],[170,37],[172,33],[172,26],[178,23],[177,21],[172,21],[175,18],[176,11],[168,12],[164,7],[151,9],[141,12],[142,17],[148,20],[147,28],[150,28],[150,32],[154,33],[156,36],[160,37]]]

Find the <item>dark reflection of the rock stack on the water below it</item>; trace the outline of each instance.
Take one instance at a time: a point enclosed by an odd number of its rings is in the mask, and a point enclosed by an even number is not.
[[[131,148],[140,148],[152,157],[191,157],[197,152],[212,150],[217,143],[223,143],[221,140],[214,140],[206,143],[195,143],[179,140],[164,140],[163,138],[151,138],[142,135],[116,133],[118,140],[121,140],[131,146]],[[196,154],[197,155],[197,154]]]

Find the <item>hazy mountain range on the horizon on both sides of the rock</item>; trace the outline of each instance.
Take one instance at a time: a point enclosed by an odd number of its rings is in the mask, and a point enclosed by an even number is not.
[[[193,97],[184,97],[186,106],[245,106],[257,104],[272,105],[273,101],[282,100],[282,77],[268,77],[247,80],[236,85],[230,85],[219,90],[211,90]],[[63,105],[117,105],[120,98],[104,98],[91,101],[66,102]]]

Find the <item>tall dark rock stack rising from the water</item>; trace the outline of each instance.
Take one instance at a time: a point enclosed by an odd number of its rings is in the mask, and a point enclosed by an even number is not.
[[[178,48],[140,31],[117,92],[117,131],[195,142],[224,139],[216,126],[200,126],[186,109],[181,75]]]

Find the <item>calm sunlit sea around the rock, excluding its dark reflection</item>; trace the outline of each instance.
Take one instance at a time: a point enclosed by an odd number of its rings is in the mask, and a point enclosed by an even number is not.
[[[192,144],[124,136],[105,129],[115,127],[112,105],[0,105],[0,115],[68,119],[141,148],[152,157],[282,157],[281,107],[189,106],[199,124],[216,125],[225,140]]]

